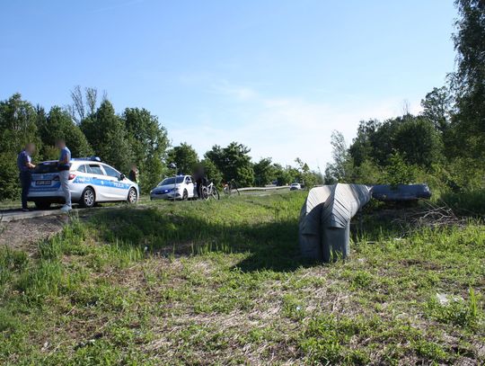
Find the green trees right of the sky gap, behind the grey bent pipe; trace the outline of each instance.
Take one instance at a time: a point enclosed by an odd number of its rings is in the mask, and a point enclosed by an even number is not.
[[[426,182],[440,192],[485,185],[485,2],[458,0],[457,69],[421,101],[422,112],[361,121],[350,146],[334,131],[325,182]]]

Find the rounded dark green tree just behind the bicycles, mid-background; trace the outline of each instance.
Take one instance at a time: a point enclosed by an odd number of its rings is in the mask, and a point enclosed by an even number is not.
[[[237,142],[227,147],[218,145],[207,151],[205,157],[210,159],[223,174],[225,182],[234,179],[239,186],[250,186],[254,182],[254,170],[251,164],[251,149]]]

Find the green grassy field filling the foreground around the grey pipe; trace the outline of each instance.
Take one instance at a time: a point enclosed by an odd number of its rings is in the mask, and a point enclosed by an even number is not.
[[[304,194],[107,208],[35,253],[2,248],[0,363],[485,362],[479,222],[370,213],[348,261],[308,263]]]

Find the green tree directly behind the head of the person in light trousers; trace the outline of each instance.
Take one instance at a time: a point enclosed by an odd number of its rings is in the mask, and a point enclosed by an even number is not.
[[[54,157],[51,155],[57,138],[66,139],[66,145],[71,150],[72,156],[93,155],[93,148],[89,146],[83,131],[75,125],[68,112],[54,106],[47,116],[45,116],[42,108],[38,108],[37,114],[37,125],[43,145],[42,156],[46,158]]]

